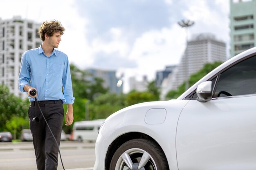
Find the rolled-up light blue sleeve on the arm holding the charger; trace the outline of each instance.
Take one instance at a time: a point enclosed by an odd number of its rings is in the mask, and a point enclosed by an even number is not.
[[[20,74],[19,74],[19,90],[21,92],[25,92],[24,86],[26,84],[29,85],[29,79],[30,79],[29,72],[30,72],[30,67],[27,61],[27,55],[26,53],[23,53],[21,57]]]

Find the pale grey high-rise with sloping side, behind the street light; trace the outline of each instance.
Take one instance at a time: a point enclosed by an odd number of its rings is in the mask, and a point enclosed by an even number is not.
[[[187,77],[199,71],[204,64],[216,61],[226,61],[226,44],[210,33],[194,36],[188,42],[180,64],[164,79],[161,99],[164,99],[168,91],[176,90]]]

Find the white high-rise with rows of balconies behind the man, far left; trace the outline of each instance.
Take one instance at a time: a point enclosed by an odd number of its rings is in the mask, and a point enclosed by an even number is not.
[[[25,98],[18,89],[18,75],[22,53],[42,43],[38,28],[40,24],[16,16],[9,20],[0,18],[0,84],[9,87],[10,92]]]

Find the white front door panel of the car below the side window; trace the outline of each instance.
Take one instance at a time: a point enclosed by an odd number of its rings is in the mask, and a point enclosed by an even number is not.
[[[191,100],[177,126],[179,170],[255,170],[255,101],[256,95]]]

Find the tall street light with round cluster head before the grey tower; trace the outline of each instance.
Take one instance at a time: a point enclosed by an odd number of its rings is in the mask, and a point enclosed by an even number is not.
[[[188,48],[188,42],[189,42],[189,36],[188,36],[188,27],[192,26],[195,22],[190,21],[190,20],[181,20],[178,22],[178,24],[182,27],[185,28],[186,30],[186,81],[185,81],[185,90],[189,89],[189,48]]]

